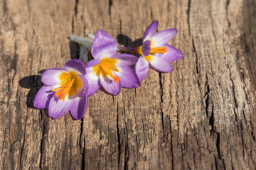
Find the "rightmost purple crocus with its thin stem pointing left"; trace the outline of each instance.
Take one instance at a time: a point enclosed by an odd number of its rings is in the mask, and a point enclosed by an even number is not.
[[[162,30],[158,33],[156,29],[158,27],[158,21],[154,21],[150,24],[143,35],[143,44],[137,48],[131,47],[119,47],[119,50],[137,52],[141,57],[137,64],[135,64],[135,72],[137,73],[139,80],[142,81],[147,72],[149,71],[149,63],[151,66],[159,72],[172,72],[174,67],[169,62],[175,62],[183,58],[182,52],[175,47],[166,44],[177,33],[176,29]]]

